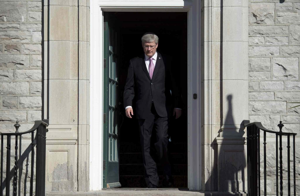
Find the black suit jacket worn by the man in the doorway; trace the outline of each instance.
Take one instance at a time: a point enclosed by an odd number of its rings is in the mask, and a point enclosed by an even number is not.
[[[151,80],[144,55],[130,60],[124,89],[124,107],[132,106],[132,100],[136,97],[137,119],[149,116],[152,100],[161,117],[172,115],[172,107],[182,108],[180,89],[172,77],[171,66],[171,62],[163,60],[158,53]]]

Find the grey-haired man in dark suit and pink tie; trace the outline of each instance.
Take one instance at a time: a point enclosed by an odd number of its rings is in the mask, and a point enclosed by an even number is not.
[[[139,124],[145,180],[148,188],[158,187],[155,161],[150,155],[152,129],[156,134],[155,148],[164,170],[164,184],[172,185],[171,165],[168,160],[168,119],[181,116],[181,94],[172,77],[171,62],[166,62],[158,47],[158,36],[145,33],[142,37],[144,55],[130,60],[124,89],[124,106],[128,118],[132,118],[132,100],[136,98],[136,115]]]

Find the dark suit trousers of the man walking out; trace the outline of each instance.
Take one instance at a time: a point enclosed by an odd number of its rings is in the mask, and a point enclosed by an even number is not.
[[[171,165],[167,155],[169,141],[168,117],[158,116],[154,104],[152,103],[151,114],[149,117],[147,119],[138,119],[138,122],[146,184],[148,186],[149,182],[151,182],[158,186],[159,178],[156,163],[150,155],[150,139],[153,130],[156,134],[156,143],[154,146],[158,152],[164,175],[171,176]]]

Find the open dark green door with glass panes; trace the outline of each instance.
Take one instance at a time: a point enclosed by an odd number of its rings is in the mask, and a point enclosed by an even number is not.
[[[104,12],[104,124],[103,124],[103,188],[121,186],[119,182],[119,108],[118,92],[118,33],[110,26]]]

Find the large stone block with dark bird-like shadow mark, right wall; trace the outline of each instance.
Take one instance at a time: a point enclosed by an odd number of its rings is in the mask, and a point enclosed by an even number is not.
[[[280,57],[273,58],[273,80],[298,80],[299,59]]]

